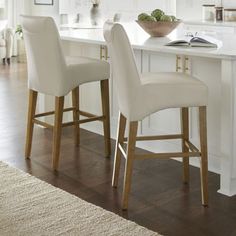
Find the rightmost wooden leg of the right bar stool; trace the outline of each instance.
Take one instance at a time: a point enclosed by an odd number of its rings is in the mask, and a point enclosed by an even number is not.
[[[208,154],[207,154],[207,116],[206,107],[199,107],[199,128],[201,145],[201,191],[202,205],[208,205]]]

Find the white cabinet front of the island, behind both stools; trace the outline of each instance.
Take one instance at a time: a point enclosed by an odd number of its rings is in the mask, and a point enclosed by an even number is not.
[[[99,59],[101,57],[101,46],[88,43],[63,42],[65,53],[70,56],[88,56]],[[105,55],[105,51],[102,51]],[[136,49],[134,51],[138,69],[141,73],[147,72],[169,72],[176,71],[176,56],[167,53],[155,53]],[[109,57],[109,53],[108,53]],[[184,59],[184,58],[183,58]],[[208,139],[209,152],[211,155],[211,170],[217,171],[219,163],[220,147],[220,78],[221,65],[216,59],[188,57],[189,73],[203,80],[209,87],[209,109],[208,109]],[[108,58],[109,60],[109,58]],[[180,71],[183,69],[183,60],[179,61]],[[89,96],[88,96],[89,94]],[[111,106],[111,132],[112,137],[116,135],[118,119],[118,102],[115,84],[110,80],[110,106]],[[171,96],[171,94],[170,94]],[[68,99],[68,101],[70,101]],[[82,85],[80,89],[80,105],[82,110],[95,114],[101,113],[100,86],[99,82]],[[85,124],[82,126],[90,131],[102,134],[100,122]],[[168,109],[155,113],[140,122],[139,133],[143,135],[152,134],[174,134],[180,132],[180,109]],[[190,109],[190,137],[198,146],[198,113],[197,109]],[[138,146],[150,151],[176,151],[179,150],[180,142],[140,142]],[[198,165],[198,159],[191,159],[192,164]]]

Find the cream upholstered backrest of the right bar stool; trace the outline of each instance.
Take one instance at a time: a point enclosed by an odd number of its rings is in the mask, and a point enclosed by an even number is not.
[[[104,38],[111,56],[112,74],[117,88],[119,108],[125,113],[132,109],[131,101],[138,92],[140,75],[128,36],[119,23],[104,24]]]

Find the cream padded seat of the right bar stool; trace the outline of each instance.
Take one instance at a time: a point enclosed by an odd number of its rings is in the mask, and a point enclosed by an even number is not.
[[[176,72],[148,73],[140,76],[128,110],[121,110],[130,121],[167,108],[206,106],[208,88],[200,80]]]

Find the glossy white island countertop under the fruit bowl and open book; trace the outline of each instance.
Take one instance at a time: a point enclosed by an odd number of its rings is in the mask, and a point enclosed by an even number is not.
[[[236,59],[236,34],[214,34],[211,35],[223,42],[221,48],[189,48],[189,47],[168,47],[165,46],[171,40],[181,38],[184,32],[180,29],[173,31],[167,37],[153,38],[146,34],[135,22],[123,24],[130,42],[134,49],[142,49],[153,52],[165,52],[173,54],[184,54],[219,59]],[[62,40],[104,45],[102,29],[78,29],[60,32]]]

